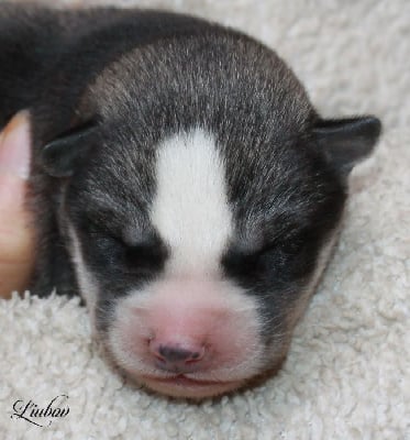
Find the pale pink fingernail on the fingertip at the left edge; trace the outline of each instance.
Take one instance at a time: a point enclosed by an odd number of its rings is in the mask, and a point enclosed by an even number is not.
[[[0,135],[0,173],[7,172],[27,179],[30,144],[29,112],[21,111],[7,124]]]

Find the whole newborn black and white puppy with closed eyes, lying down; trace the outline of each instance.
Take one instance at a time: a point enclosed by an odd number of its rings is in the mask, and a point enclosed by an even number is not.
[[[285,63],[187,15],[0,8],[0,127],[29,109],[32,292],[80,295],[115,363],[193,398],[277,367],[374,117],[323,120]]]

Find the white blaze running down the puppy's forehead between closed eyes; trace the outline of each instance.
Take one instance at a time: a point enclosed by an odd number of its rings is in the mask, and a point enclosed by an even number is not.
[[[152,222],[170,248],[169,273],[214,272],[232,230],[225,173],[213,136],[196,129],[158,147]]]

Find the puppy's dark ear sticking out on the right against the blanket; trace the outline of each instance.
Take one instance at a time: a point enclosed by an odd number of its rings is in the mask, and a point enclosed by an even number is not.
[[[342,175],[367,157],[381,132],[381,123],[375,117],[320,120],[314,129],[315,143]]]

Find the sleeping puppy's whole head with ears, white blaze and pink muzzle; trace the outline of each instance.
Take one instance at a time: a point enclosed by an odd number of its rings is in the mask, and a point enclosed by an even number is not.
[[[81,295],[117,363],[201,398],[274,369],[328,260],[375,118],[323,121],[237,35],[135,50],[92,84],[95,123],[47,145]]]

